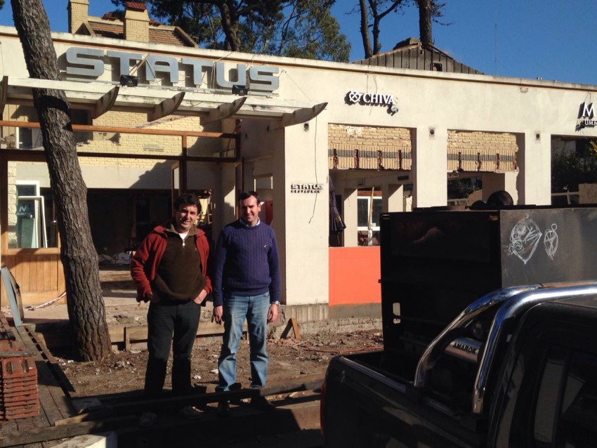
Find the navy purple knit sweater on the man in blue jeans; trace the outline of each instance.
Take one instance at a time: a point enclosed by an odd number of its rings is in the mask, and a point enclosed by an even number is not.
[[[247,227],[241,220],[226,225],[214,252],[214,306],[223,295],[258,296],[270,292],[270,303],[280,301],[280,261],[273,228],[260,222]]]

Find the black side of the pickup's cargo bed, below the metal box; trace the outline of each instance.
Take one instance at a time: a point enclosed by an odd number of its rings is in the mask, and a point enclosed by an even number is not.
[[[400,446],[388,445],[391,440],[407,446],[416,440],[433,447],[450,443],[483,446],[485,428],[480,419],[464,407],[449,406],[447,397],[438,400],[415,390],[412,380],[384,368],[387,355],[383,351],[358,353],[330,362],[325,387],[326,395],[334,400],[325,404],[322,418],[335,423],[325,424],[324,430],[334,431],[326,437],[334,444],[327,446]]]

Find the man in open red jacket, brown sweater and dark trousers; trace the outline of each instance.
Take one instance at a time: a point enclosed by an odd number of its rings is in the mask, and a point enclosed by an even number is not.
[[[190,381],[192,345],[197,336],[201,304],[211,293],[207,274],[209,244],[195,226],[201,204],[195,195],[181,195],[166,226],[158,225],[131,260],[137,301],[149,301],[145,394],[157,397],[166,378],[172,345],[172,392],[184,395]]]

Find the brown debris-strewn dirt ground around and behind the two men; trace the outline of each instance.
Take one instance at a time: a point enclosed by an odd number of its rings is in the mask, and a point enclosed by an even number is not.
[[[134,294],[127,268],[100,270],[100,280],[105,294]],[[106,310],[110,322],[145,323],[146,305],[128,305]],[[209,319],[211,310],[205,310],[202,321]],[[292,334],[292,333],[290,333]],[[301,377],[324,376],[329,360],[334,355],[381,348],[379,329],[335,333],[326,329],[317,334],[296,338],[270,338],[268,355],[268,383],[284,384],[300,381]],[[218,355],[221,337],[198,338],[192,353],[192,383],[213,390],[218,379]],[[67,353],[53,353],[75,389],[74,397],[89,397],[143,389],[147,350],[113,353],[98,362],[75,362]],[[166,389],[170,388],[171,361],[166,375]],[[251,382],[249,369],[249,343],[241,341],[237,353],[237,381],[242,387]]]

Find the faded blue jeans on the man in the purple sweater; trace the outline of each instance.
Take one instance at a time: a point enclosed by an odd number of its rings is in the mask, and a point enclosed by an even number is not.
[[[261,296],[225,296],[224,336],[218,359],[219,385],[216,390],[229,390],[236,381],[236,353],[242,337],[244,319],[249,329],[251,351],[251,388],[265,386],[268,375],[268,354],[265,344],[268,339],[268,309],[270,293]]]

